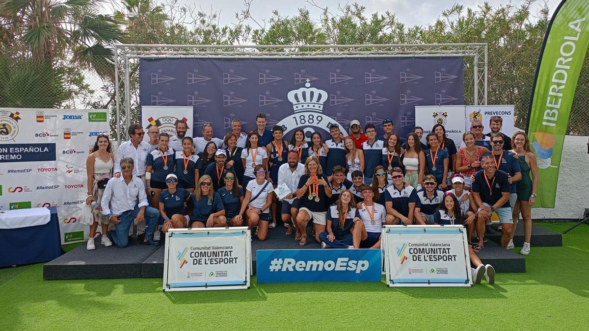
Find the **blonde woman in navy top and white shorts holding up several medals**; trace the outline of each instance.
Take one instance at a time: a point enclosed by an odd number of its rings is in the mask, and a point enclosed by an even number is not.
[[[325,231],[327,199],[332,196],[332,188],[327,184],[321,164],[316,157],[305,161],[305,174],[300,177],[296,196],[300,200],[299,213],[296,217],[297,229],[300,229],[300,246],[307,244],[307,222],[313,220],[315,240],[320,243],[319,234]]]

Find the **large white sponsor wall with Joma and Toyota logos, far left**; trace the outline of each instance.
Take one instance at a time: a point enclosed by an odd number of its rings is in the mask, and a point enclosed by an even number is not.
[[[10,138],[0,138],[0,208],[55,206],[62,243],[87,239],[88,227],[78,223],[86,160],[109,130],[107,111],[0,108],[1,128]]]

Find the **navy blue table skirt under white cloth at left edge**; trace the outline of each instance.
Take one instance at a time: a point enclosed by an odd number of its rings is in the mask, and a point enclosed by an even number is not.
[[[61,255],[56,207],[49,223],[18,229],[0,229],[0,267],[48,262]]]

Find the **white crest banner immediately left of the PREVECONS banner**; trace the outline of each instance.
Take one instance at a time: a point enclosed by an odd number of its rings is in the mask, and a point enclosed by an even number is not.
[[[446,136],[460,145],[464,134],[464,105],[415,106],[415,126],[423,128],[422,143],[427,144],[426,136],[436,124],[444,125]]]

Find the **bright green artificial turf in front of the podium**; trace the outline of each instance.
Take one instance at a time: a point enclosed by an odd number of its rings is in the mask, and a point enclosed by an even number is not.
[[[560,232],[569,224],[542,226]],[[563,236],[563,247],[532,247],[527,273],[472,288],[253,277],[249,290],[163,293],[161,279],[44,281],[42,263],[0,269],[0,330],[587,330],[588,237],[583,225]]]

